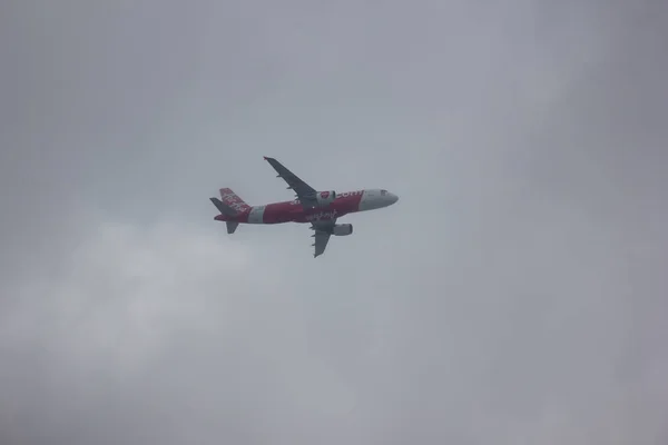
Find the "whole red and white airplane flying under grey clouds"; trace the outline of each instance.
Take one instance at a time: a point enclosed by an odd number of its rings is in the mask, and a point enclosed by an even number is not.
[[[227,233],[234,234],[239,222],[244,224],[282,224],[310,222],[315,233],[315,253],[317,257],[325,251],[330,236],[346,236],[353,233],[352,224],[336,224],[347,214],[374,210],[393,205],[399,197],[384,189],[355,190],[336,194],[334,190],[316,191],[274,158],[265,160],[276,170],[277,178],[283,178],[288,189],[295,191],[297,199],[292,201],[249,206],[229,188],[220,189],[220,198],[209,198],[220,215],[214,218],[225,221]]]

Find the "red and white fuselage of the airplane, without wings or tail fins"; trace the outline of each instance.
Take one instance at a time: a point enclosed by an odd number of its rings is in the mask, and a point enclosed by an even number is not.
[[[236,216],[217,215],[218,221],[242,224],[317,222],[341,218],[347,214],[374,210],[391,206],[399,198],[384,189],[366,189],[336,194],[324,206],[304,208],[298,199],[252,206]]]

